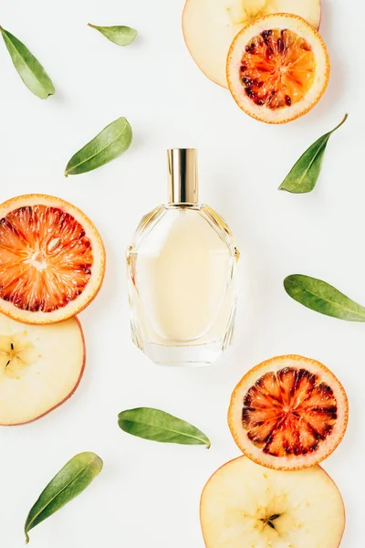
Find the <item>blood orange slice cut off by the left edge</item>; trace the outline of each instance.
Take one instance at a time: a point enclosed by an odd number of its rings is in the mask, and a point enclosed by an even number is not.
[[[98,293],[101,238],[77,207],[23,195],[0,205],[0,312],[26,323],[75,316]]]

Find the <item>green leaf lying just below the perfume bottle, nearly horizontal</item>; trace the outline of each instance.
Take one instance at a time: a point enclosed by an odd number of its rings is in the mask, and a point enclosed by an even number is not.
[[[151,441],[211,447],[209,438],[198,428],[181,418],[151,407],[122,411],[118,416],[118,424],[124,432]]]

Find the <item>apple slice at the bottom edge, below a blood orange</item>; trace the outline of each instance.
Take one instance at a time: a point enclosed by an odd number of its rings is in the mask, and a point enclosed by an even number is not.
[[[205,485],[201,523],[206,548],[338,548],[345,511],[320,466],[284,472],[240,457]]]

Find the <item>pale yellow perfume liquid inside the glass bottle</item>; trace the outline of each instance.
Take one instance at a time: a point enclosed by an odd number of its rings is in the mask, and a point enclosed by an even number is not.
[[[168,214],[150,244],[139,253],[137,279],[153,329],[170,341],[201,339],[226,307],[232,268],[226,244],[198,211],[188,208]],[[225,327],[224,313],[222,321]],[[216,327],[219,332],[221,326]]]

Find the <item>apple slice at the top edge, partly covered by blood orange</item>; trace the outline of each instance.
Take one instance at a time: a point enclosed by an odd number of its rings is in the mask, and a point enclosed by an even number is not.
[[[229,48],[238,32],[262,16],[288,13],[318,28],[320,0],[186,0],[183,36],[205,76],[227,88]]]

